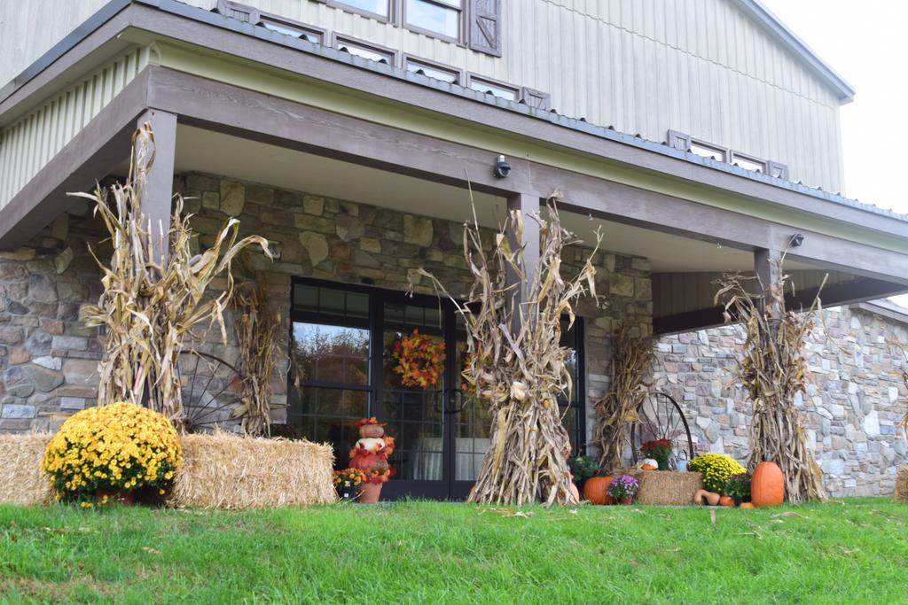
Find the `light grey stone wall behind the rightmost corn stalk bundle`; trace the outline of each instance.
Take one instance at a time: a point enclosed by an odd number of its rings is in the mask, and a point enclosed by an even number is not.
[[[830,493],[892,493],[908,442],[896,426],[908,392],[898,344],[908,324],[855,307],[824,310],[822,329],[807,346],[812,383],[796,403]],[[698,451],[744,461],[750,404],[734,384],[740,327],[717,327],[657,341],[656,388],[685,408]]]

